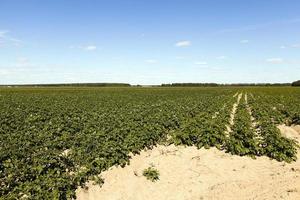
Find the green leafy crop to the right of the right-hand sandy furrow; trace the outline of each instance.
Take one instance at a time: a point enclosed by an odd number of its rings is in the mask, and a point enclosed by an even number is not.
[[[294,116],[294,113],[300,113],[300,107],[294,106],[299,98],[299,93],[291,97],[289,96],[291,91],[295,90],[277,89],[272,93],[262,90],[256,95],[255,100],[250,100],[253,115],[258,120],[258,128],[261,131],[260,153],[278,161],[291,162],[297,159],[297,148],[299,147],[297,142],[282,136],[276,127],[284,122],[291,125],[291,116]],[[283,96],[283,93],[286,96]]]

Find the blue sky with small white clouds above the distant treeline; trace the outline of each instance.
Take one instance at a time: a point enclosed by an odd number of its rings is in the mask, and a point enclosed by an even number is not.
[[[299,0],[0,0],[0,84],[291,82]]]

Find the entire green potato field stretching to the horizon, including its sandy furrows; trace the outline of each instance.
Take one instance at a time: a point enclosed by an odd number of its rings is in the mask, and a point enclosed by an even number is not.
[[[72,199],[156,144],[297,159],[300,89],[0,88],[0,199]]]

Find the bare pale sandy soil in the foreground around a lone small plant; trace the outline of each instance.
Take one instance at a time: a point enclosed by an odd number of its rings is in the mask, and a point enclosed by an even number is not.
[[[284,135],[300,141],[300,126],[279,126]],[[154,166],[160,180],[151,182],[142,171]],[[79,200],[183,199],[300,199],[300,151],[291,164],[267,157],[233,156],[215,148],[158,146],[134,156],[125,168],[102,173],[100,188],[88,183],[78,189]]]

